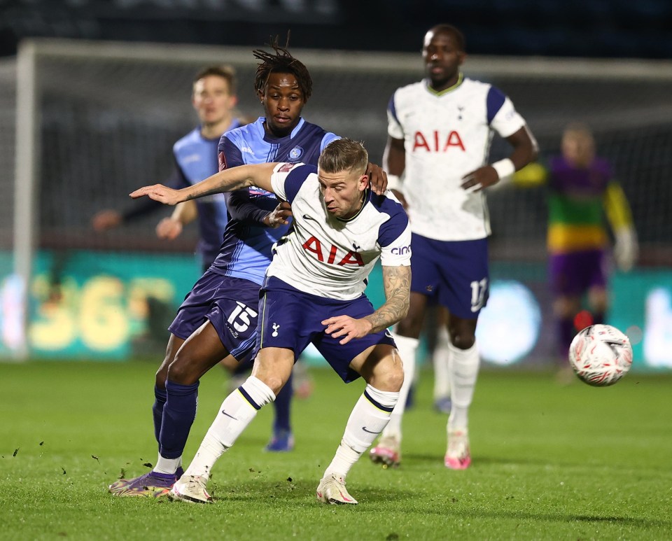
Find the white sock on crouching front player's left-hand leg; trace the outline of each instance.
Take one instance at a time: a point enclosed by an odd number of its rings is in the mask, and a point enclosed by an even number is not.
[[[255,418],[262,406],[275,400],[275,393],[263,381],[254,376],[233,391],[224,402],[220,412],[203,438],[196,456],[185,475],[201,475],[207,479],[217,459],[232,447]]]

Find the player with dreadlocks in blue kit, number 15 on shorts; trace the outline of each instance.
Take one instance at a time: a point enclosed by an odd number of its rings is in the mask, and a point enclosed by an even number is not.
[[[218,148],[220,171],[268,162],[316,166],[323,148],[339,139],[302,118],[312,92],[310,73],[277,39],[270,46],[274,52],[253,51],[260,60],[254,87],[265,115],[223,134]],[[367,174],[372,189],[383,193],[387,181],[382,169],[368,164]],[[272,259],[272,246],[288,232],[291,209],[260,188],[232,192],[228,198],[230,220],[220,253],[169,327],[171,341],[157,373],[157,379],[166,382],[167,400],[157,398],[153,405],[158,461],[145,475],[111,484],[109,490],[116,496],[169,493],[183,475],[182,454],[196,416],[200,377],[222,359],[244,363],[253,356],[259,289]],[[178,335],[188,338],[182,340]],[[202,447],[209,437],[210,432]],[[202,479],[203,486],[205,482],[207,478]],[[209,496],[203,489],[192,500],[205,503]]]

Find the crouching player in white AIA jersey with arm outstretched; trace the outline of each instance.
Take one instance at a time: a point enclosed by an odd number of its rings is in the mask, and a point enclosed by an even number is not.
[[[361,143],[337,139],[324,148],[317,168],[244,165],[183,190],[154,185],[131,194],[176,204],[257,186],[290,202],[293,210],[292,228],[274,248],[256,308],[261,316],[252,375],[222,403],[172,497],[211,502],[206,484],[214,463],[275,399],[312,343],[344,382],[360,376],[366,382],[316,491],[322,503],[357,503],[345,478],[384,429],[399,397],[403,368],[387,328],[407,313],[411,279],[408,217],[392,195],[372,194],[367,161]],[[374,310],[364,290],[378,259],[386,300]]]

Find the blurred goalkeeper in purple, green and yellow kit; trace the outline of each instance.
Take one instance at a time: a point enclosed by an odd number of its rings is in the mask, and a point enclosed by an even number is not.
[[[547,169],[530,164],[514,180],[521,185],[546,181],[548,188],[549,282],[554,295],[559,359],[572,377],[567,353],[577,330],[604,323],[608,309],[607,281],[610,244],[605,216],[614,234],[614,258],[629,271],[637,258],[637,234],[630,206],[614,180],[607,160],[595,155],[591,129],[581,123],[566,127],[561,156],[552,157]],[[583,297],[591,314],[579,321]],[[562,374],[562,372],[561,372]]]

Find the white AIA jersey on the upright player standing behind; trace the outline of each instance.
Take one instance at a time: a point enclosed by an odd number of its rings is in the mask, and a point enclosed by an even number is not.
[[[510,99],[488,83],[464,78],[435,92],[428,80],[398,88],[388,106],[388,134],[403,139],[403,193],[414,233],[441,241],[490,234],[485,194],[460,188],[487,163],[493,130],[508,137],[525,125]]]

